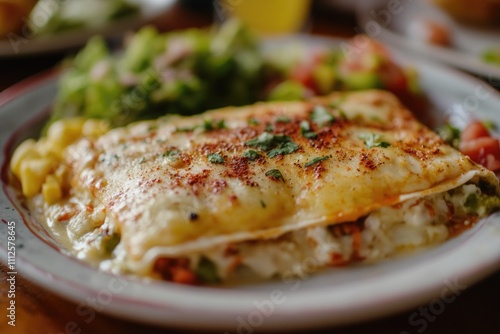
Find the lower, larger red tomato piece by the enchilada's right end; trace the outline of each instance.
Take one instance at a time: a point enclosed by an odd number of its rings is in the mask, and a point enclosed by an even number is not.
[[[500,142],[497,138],[478,137],[460,143],[460,152],[473,161],[495,171],[500,169]]]

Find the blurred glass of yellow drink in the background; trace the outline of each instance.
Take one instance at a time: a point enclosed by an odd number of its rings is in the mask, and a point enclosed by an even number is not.
[[[264,35],[286,34],[304,28],[311,0],[219,0],[220,20],[235,16]]]

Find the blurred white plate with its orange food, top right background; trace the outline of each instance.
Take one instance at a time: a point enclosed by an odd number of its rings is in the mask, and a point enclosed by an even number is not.
[[[484,24],[491,23],[491,17],[480,19],[487,11],[479,9],[486,5],[476,2],[474,5],[469,2],[474,8],[470,17],[466,17],[462,2],[413,1],[393,6],[386,0],[359,1],[356,14],[360,28],[370,37],[428,59],[498,79],[500,24]],[[498,0],[483,2],[492,6],[492,15],[500,15]],[[482,24],[471,24],[478,21]]]

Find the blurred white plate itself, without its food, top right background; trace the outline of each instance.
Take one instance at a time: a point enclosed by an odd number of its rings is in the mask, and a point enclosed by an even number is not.
[[[500,79],[500,65],[485,63],[481,54],[500,47],[500,27],[473,28],[461,25],[428,1],[401,1],[389,8],[386,0],[358,1],[356,13],[361,29],[402,50],[479,74]],[[388,14],[388,15],[387,15]],[[430,19],[449,28],[450,47],[441,47],[411,40],[407,37],[410,23],[415,19]]]

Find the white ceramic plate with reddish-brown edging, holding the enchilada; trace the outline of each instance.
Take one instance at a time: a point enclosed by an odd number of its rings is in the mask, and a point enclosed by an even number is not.
[[[339,43],[304,37],[283,42]],[[473,116],[500,124],[496,112],[500,96],[483,82],[421,61],[405,62],[420,71],[437,118],[447,114],[460,123]],[[8,157],[22,139],[36,135],[56,94],[56,80],[57,74],[52,73],[0,94],[0,144],[4,150],[0,157],[4,222],[0,223],[0,260],[7,262],[7,223],[13,221],[14,269],[73,300],[78,320],[88,316],[90,298],[108,314],[164,326],[249,333],[338,325],[403,311],[441,296],[450,284],[470,285],[500,267],[500,216],[494,215],[428,251],[377,265],[317,272],[303,280],[196,287],[100,272],[59,252],[57,243],[23,209],[6,183]],[[307,263],[303,265],[308,268]]]

